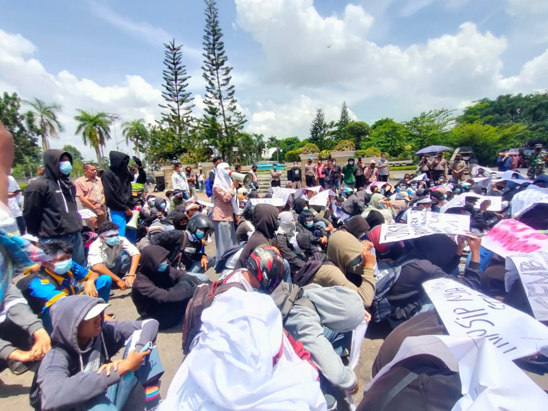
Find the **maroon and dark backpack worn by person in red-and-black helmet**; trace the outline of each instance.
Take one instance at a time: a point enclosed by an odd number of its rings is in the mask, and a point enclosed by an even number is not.
[[[245,291],[245,287],[239,282],[233,282],[226,284],[225,282],[213,282],[212,284],[202,284],[198,286],[192,296],[192,299],[188,301],[186,310],[184,313],[183,324],[183,353],[187,355],[192,347],[192,341],[195,336],[200,333],[201,327],[201,313],[206,308],[210,308],[212,303],[223,292],[228,291],[230,288],[239,288]]]

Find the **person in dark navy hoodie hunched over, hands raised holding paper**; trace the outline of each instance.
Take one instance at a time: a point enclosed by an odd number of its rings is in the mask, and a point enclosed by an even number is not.
[[[401,273],[388,292],[391,306],[388,321],[393,327],[410,319],[423,310],[426,294],[421,284],[434,278],[451,278],[473,290],[479,290],[479,247],[482,239],[475,234],[458,237],[458,245],[445,234],[432,234],[414,240],[407,240],[410,251],[399,259]],[[462,277],[451,275],[458,267],[465,242],[471,250],[471,262]]]

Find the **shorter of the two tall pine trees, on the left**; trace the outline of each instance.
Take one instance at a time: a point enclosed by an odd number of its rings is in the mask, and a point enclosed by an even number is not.
[[[169,109],[169,113],[162,113],[162,121],[168,123],[182,139],[190,123],[190,113],[195,106],[190,105],[194,97],[190,97],[191,93],[186,91],[190,75],[186,75],[186,66],[181,64],[182,46],[175,46],[175,39],[173,39],[164,47],[166,47],[164,64],[167,69],[162,72],[166,82],[162,84],[166,89],[162,91],[162,97],[167,101],[167,105],[160,104],[160,107]]]

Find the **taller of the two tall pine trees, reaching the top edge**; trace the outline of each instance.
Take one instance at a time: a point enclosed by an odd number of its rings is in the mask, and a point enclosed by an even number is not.
[[[219,25],[219,10],[214,0],[205,2],[206,28],[203,31],[206,34],[202,44],[206,60],[203,60],[202,70],[203,78],[206,79],[206,97],[203,102],[208,105],[206,114],[214,114],[221,125],[217,147],[221,150],[221,155],[227,155],[229,164],[232,164],[232,146],[246,120],[236,108],[234,85],[230,84],[232,67],[227,64],[225,43],[221,41],[223,32]]]

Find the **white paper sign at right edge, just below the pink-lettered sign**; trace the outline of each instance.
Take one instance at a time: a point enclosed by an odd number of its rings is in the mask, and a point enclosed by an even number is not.
[[[521,279],[533,314],[538,321],[548,321],[548,253],[519,254],[506,258],[506,291]]]

